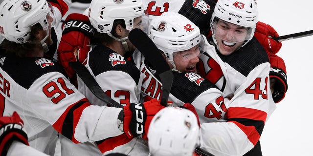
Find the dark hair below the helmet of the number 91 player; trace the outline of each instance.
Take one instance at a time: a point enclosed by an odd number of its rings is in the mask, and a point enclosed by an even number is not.
[[[25,57],[26,54],[31,53],[34,48],[42,48],[40,40],[36,37],[40,30],[43,30],[43,28],[39,23],[37,23],[30,27],[31,35],[26,43],[20,44],[4,39],[0,44],[0,47],[5,51],[5,53],[13,54],[21,58]]]

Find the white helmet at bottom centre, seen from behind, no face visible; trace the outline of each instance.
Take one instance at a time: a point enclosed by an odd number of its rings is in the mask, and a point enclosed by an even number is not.
[[[152,156],[192,156],[200,144],[197,117],[184,108],[160,110],[149,126],[148,144]]]

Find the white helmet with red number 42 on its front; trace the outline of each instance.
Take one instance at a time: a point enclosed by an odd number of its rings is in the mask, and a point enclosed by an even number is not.
[[[176,52],[199,46],[200,54],[205,47],[200,29],[192,21],[175,12],[164,12],[151,20],[148,36],[174,66]]]

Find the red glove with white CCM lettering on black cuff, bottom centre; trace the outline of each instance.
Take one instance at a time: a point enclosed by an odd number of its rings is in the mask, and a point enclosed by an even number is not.
[[[148,134],[152,118],[156,113],[165,108],[155,98],[144,103],[131,103],[124,107],[123,129],[128,137],[138,137]],[[146,138],[146,135],[143,136]]]

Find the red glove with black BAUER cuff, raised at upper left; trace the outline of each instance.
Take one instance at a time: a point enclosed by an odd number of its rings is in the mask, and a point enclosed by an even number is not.
[[[87,16],[78,13],[69,14],[64,23],[62,38],[58,47],[58,61],[64,67],[69,78],[73,78],[75,72],[68,66],[68,62],[84,62],[90,50],[89,43],[94,28]]]

